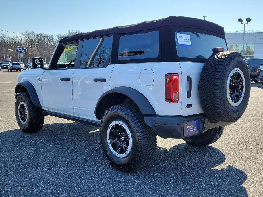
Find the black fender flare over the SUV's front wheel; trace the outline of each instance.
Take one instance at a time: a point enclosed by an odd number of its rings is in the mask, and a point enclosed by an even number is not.
[[[32,85],[32,83],[30,83],[29,81],[23,81],[21,83],[18,83],[16,85],[16,88],[15,88],[15,93],[23,92],[23,91],[21,91],[22,87],[26,88],[26,90],[27,90],[27,92],[31,98],[32,103],[35,106],[42,108],[42,106],[40,105],[39,99],[38,99],[38,94],[36,93],[36,90],[35,90],[34,86]]]

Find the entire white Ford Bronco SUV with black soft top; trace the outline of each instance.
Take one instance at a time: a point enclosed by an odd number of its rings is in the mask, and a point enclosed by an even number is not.
[[[227,51],[223,27],[170,16],[61,39],[48,68],[34,57],[18,76],[15,113],[27,133],[46,115],[100,127],[107,160],[129,172],[153,158],[156,135],[217,141],[249,96],[247,63]]]

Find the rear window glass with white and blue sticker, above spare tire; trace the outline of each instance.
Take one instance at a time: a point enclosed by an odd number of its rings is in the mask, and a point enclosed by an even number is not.
[[[208,58],[212,55],[212,49],[222,47],[227,51],[225,40],[213,35],[175,32],[176,50],[180,57]]]

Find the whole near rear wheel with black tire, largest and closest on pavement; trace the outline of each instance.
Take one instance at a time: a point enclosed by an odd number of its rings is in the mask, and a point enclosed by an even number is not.
[[[109,163],[123,172],[145,167],[157,147],[156,134],[145,125],[134,103],[115,105],[104,113],[100,139]]]

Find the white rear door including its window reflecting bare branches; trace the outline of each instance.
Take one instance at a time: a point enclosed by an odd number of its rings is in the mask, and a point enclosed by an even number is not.
[[[94,109],[100,96],[109,90],[113,36],[83,41],[80,68],[73,75],[73,106],[78,116],[97,120]]]

